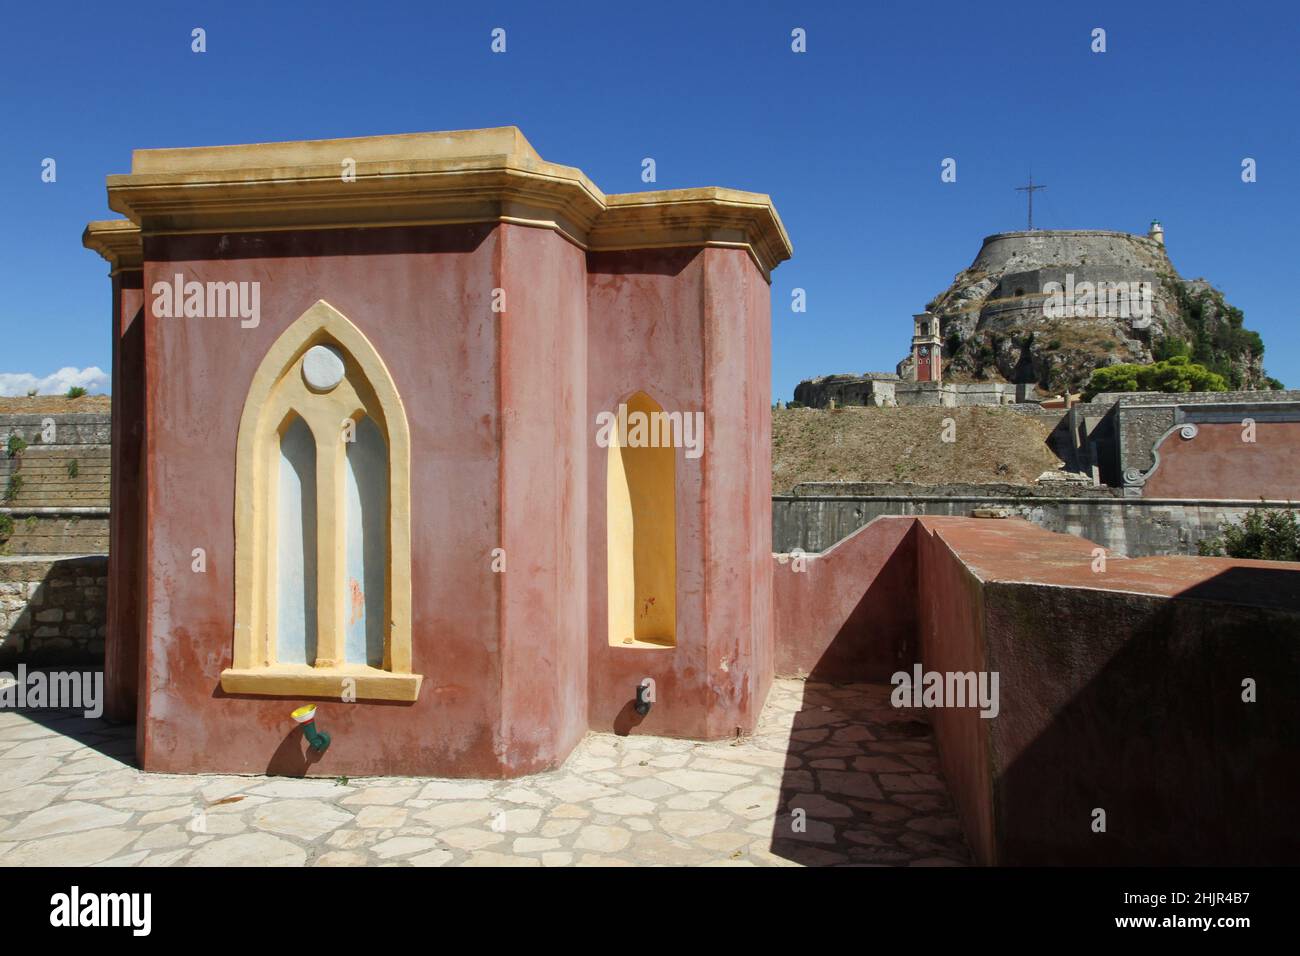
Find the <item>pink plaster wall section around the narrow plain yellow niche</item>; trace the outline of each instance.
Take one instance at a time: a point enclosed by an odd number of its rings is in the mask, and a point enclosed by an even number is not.
[[[771,680],[770,306],[740,250],[588,258],[588,423],[645,392],[705,412],[701,458],[677,450],[677,644],[611,648],[606,460],[588,462],[589,722],[594,730],[731,736],[757,721]],[[640,718],[636,687],[658,702]]]

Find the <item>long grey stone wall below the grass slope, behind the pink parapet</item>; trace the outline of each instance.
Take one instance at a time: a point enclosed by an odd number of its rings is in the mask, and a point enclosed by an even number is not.
[[[1179,501],[1034,494],[883,494],[863,497],[772,497],[772,550],[824,551],[881,515],[968,518],[976,509],[1004,509],[1048,531],[1096,541],[1130,558],[1196,554],[1221,522],[1239,522],[1257,501]],[[1300,510],[1295,502],[1269,507]]]

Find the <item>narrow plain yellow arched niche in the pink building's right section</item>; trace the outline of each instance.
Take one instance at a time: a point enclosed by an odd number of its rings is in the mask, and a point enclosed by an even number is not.
[[[676,449],[649,445],[644,427],[637,437],[638,414],[646,416],[642,421],[654,421],[663,414],[658,402],[637,392],[624,405],[628,434],[614,429],[606,451],[610,645],[672,648],[677,644]]]

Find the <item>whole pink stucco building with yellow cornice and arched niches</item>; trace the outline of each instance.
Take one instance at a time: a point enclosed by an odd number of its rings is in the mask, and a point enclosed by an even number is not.
[[[326,773],[753,726],[790,255],[767,196],[606,195],[514,127],[143,150],[108,193],[108,674],[146,769],[309,770],[302,700]],[[608,441],[620,406],[671,434]]]

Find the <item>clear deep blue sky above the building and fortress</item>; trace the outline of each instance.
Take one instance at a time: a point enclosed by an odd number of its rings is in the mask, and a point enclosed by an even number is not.
[[[775,398],[892,369],[911,313],[984,235],[1023,228],[1031,165],[1036,225],[1160,219],[1179,272],[1222,289],[1300,385],[1297,27],[1279,1],[9,5],[0,390],[109,368],[108,278],[81,232],[133,148],[508,124],[607,193],[647,189],[651,156],[653,187],[771,194],[796,250],[772,284]]]

